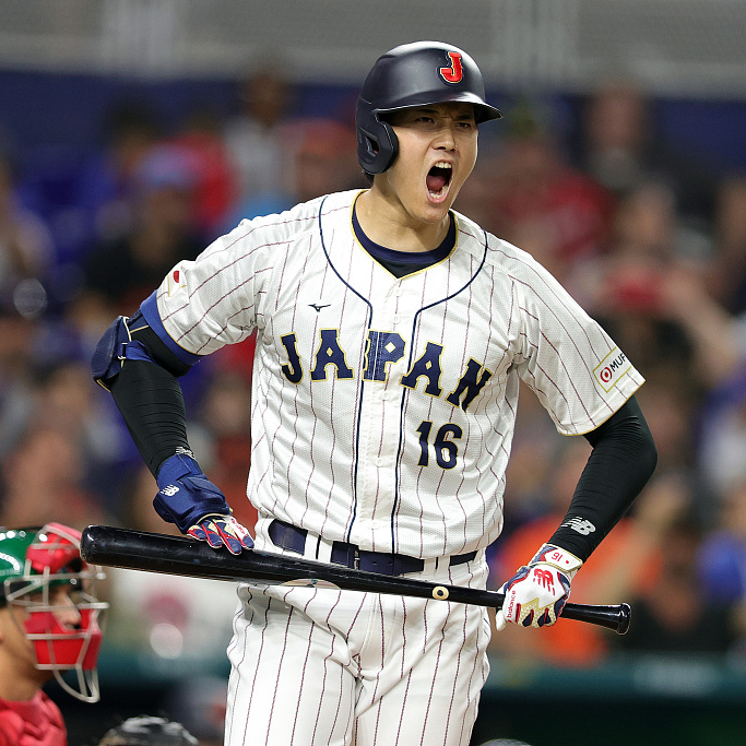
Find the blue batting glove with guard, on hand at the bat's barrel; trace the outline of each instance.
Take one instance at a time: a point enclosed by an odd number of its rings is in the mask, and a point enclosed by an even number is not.
[[[253,546],[248,530],[230,514],[225,495],[208,479],[190,453],[166,459],[156,481],[158,493],[153,507],[182,534],[208,542],[214,549],[225,546],[233,554]]]

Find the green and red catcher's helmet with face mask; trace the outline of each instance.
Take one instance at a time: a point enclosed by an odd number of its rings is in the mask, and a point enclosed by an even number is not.
[[[80,540],[79,531],[61,523],[0,530],[0,606],[23,609],[25,616],[14,614],[13,620],[34,644],[36,667],[51,671],[76,699],[96,702],[98,617],[108,604],[98,601],[94,585],[106,576],[81,559]],[[71,611],[75,623],[61,621]],[[75,687],[63,671],[75,672]]]

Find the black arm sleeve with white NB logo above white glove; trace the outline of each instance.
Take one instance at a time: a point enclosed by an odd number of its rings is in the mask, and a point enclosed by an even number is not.
[[[653,436],[635,396],[585,438],[593,450],[565,520],[548,541],[583,561],[629,510],[658,463]]]

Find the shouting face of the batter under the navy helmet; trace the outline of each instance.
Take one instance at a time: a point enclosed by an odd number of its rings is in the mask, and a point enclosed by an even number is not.
[[[399,154],[379,186],[412,217],[442,221],[474,168],[474,107],[464,103],[403,109],[390,119]]]

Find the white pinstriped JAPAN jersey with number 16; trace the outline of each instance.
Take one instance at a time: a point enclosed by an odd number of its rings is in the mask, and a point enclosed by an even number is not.
[[[157,292],[209,354],[257,329],[248,496],[331,541],[434,558],[500,532],[519,377],[559,433],[642,383],[528,253],[457,215],[457,245],[401,279],[352,229],[358,191],[245,221]]]

